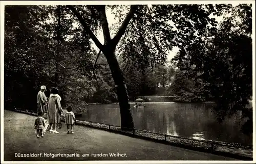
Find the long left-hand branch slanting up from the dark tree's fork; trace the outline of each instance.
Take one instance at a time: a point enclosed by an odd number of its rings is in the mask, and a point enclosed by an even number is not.
[[[74,13],[74,15],[77,17],[79,22],[82,24],[84,30],[89,34],[89,36],[92,38],[94,43],[99,49],[102,49],[102,44],[97,39],[97,37],[93,34],[93,32],[90,30],[89,26],[87,25],[86,21],[84,21],[83,17],[77,12],[77,10],[72,5],[67,5],[67,7]]]

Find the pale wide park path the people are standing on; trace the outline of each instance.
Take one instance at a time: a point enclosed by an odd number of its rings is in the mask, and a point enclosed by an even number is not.
[[[4,111],[4,160],[236,160],[229,157],[183,149],[145,141],[121,134],[84,126],[75,126],[74,134],[67,134],[62,124],[58,134],[47,132],[36,138],[35,116]],[[79,154],[79,157],[15,157],[15,153]],[[105,153],[108,157],[92,157]],[[125,153],[124,157],[110,157],[109,153]],[[90,154],[82,157],[82,154]]]

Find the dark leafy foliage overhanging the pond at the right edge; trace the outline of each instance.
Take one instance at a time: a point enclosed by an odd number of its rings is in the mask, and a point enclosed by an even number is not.
[[[209,37],[191,43],[175,60],[179,61],[178,67],[183,73],[191,72],[189,75],[194,83],[202,81],[197,87],[199,94],[215,99],[215,113],[220,122],[241,112],[247,119],[242,130],[251,133],[252,108],[248,108],[252,96],[251,6],[239,5],[231,8],[229,14],[218,30],[206,31],[205,36]],[[181,85],[184,90],[193,84],[187,80],[178,81],[182,82],[186,83]],[[184,96],[187,95],[193,96]]]

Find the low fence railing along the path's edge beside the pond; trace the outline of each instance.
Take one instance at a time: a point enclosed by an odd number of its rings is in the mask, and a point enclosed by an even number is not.
[[[34,111],[28,111],[28,110],[24,111],[21,109],[16,109],[16,110],[12,110],[12,111],[36,115],[36,113]],[[61,121],[65,121],[65,118],[62,117]],[[98,123],[98,122],[87,121],[87,120],[76,120],[76,124],[86,125],[86,126],[110,130],[110,131],[119,131],[122,133],[131,134],[131,135],[135,135],[135,136],[142,136],[143,138],[173,143],[175,145],[185,145],[185,146],[191,146],[191,147],[196,147],[196,148],[203,148],[203,149],[210,150],[210,152],[215,152],[218,149],[218,147],[221,147],[222,151],[225,148],[235,148],[235,149],[237,148],[238,149],[237,152],[235,151],[233,153],[239,154],[241,149],[243,149],[243,152],[245,152],[244,150],[247,150],[247,153],[242,154],[242,155],[245,155],[247,157],[252,157],[252,146],[244,146],[244,145],[241,145],[238,143],[225,143],[225,142],[212,141],[212,140],[196,140],[196,139],[191,139],[191,138],[185,138],[182,136],[163,134],[163,133],[140,130],[140,129],[135,129],[135,128],[123,129],[120,126],[105,124],[105,123]],[[228,151],[230,151],[230,150],[227,150],[227,153],[228,153]],[[234,150],[232,149],[231,151],[234,151]]]

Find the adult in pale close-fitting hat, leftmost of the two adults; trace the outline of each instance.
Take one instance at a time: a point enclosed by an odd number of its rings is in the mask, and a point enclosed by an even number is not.
[[[47,97],[45,95],[46,86],[41,86],[41,90],[37,94],[37,113],[46,113],[46,103],[47,103]]]

